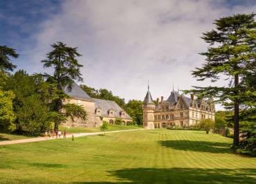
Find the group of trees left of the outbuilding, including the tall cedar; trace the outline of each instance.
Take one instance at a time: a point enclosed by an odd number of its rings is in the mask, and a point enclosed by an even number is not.
[[[0,131],[18,134],[40,134],[54,125],[74,117],[86,120],[86,111],[76,104],[65,104],[74,81],[82,81],[77,62],[77,48],[58,42],[42,61],[44,67],[53,67],[53,75],[37,73],[28,75],[19,70],[11,58],[19,55],[14,49],[0,46]]]

